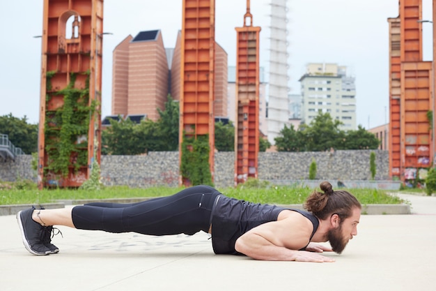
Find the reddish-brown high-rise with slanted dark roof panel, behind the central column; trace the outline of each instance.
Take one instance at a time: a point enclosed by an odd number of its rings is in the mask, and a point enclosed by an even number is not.
[[[174,48],[164,47],[160,30],[141,31],[118,44],[113,52],[112,118],[119,114],[156,121],[157,108],[164,110],[168,94],[180,100],[180,56],[180,31]],[[227,53],[217,43],[214,104],[215,117],[227,117]]]

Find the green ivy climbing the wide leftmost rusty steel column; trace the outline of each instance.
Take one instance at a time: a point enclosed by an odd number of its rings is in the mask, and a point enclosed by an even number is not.
[[[63,105],[54,111],[47,111],[45,118],[45,150],[49,157],[45,170],[68,176],[69,167],[88,163],[88,128],[96,103],[89,105],[89,73],[84,89],[74,87],[76,74],[70,74],[70,83],[64,89],[52,93],[62,96]],[[51,75],[47,73],[47,91],[51,88]],[[47,98],[48,102],[49,98]],[[81,138],[83,137],[83,138]]]

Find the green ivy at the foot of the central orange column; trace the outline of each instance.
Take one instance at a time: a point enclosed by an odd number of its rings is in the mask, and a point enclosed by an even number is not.
[[[180,172],[192,186],[213,186],[209,152],[209,135],[198,135],[197,138],[183,135]]]

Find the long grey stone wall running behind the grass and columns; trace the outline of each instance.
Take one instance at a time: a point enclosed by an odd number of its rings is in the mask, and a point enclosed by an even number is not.
[[[258,178],[268,181],[295,181],[309,178],[312,158],[317,164],[316,179],[368,180],[371,179],[369,156],[372,150],[316,151],[316,152],[260,152]],[[376,180],[389,179],[389,152],[374,150]],[[178,151],[150,152],[143,156],[102,156],[102,181],[107,186],[127,185],[147,187],[178,185]],[[215,154],[215,186],[233,186],[235,154]],[[18,156],[15,161],[0,161],[0,180],[32,179],[31,156]]]

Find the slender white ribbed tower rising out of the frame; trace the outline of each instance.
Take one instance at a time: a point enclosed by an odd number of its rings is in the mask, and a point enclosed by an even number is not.
[[[288,112],[288,8],[286,0],[271,1],[270,80],[267,108],[268,140],[274,144],[289,124]]]

